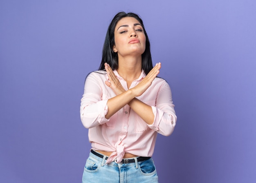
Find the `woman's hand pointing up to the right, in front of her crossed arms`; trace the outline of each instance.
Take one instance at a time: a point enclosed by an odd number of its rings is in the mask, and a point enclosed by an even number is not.
[[[132,93],[135,94],[135,96],[141,96],[148,89],[148,87],[150,87],[157,74],[159,74],[160,69],[161,63],[159,62],[137,86],[130,89],[132,90]]]

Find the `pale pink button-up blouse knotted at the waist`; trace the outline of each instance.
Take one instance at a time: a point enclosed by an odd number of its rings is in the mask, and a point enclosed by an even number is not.
[[[124,89],[128,90],[126,81],[116,70],[114,73]],[[142,71],[130,88],[135,87],[145,76]],[[137,97],[152,107],[155,118],[153,124],[148,125],[129,105],[125,105],[109,119],[105,118],[108,113],[107,101],[115,96],[112,89],[105,84],[106,80],[109,80],[106,71],[90,73],[85,80],[81,99],[81,121],[89,129],[88,137],[92,149],[112,152],[106,163],[115,159],[117,163],[121,162],[125,152],[151,157],[157,133],[171,135],[177,120],[168,83],[162,78],[155,78],[146,92]]]

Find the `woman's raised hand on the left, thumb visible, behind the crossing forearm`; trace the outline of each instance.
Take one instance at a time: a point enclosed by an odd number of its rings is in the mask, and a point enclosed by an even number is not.
[[[105,65],[105,69],[106,69],[107,74],[108,74],[108,78],[110,80],[110,82],[105,81],[105,84],[108,87],[110,87],[115,92],[116,95],[119,95],[119,94],[125,92],[126,90],[121,85],[120,81],[117,79],[117,76],[112,71],[111,67],[107,63],[105,63],[104,65]]]

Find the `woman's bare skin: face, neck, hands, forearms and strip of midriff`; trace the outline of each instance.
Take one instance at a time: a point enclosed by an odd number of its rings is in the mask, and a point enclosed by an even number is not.
[[[124,78],[124,80],[126,80],[128,90],[125,90],[122,87],[111,67],[105,63],[105,69],[110,80],[110,82],[105,81],[105,84],[116,94],[115,97],[108,99],[108,113],[105,116],[106,118],[110,118],[113,114],[128,104],[147,124],[150,125],[153,123],[154,114],[151,106],[143,103],[136,97],[141,96],[151,85],[157,74],[159,74],[161,63],[157,63],[138,85],[130,88],[132,81],[139,78],[141,74],[141,54],[144,53],[145,47],[146,36],[137,19],[126,17],[117,22],[113,50],[118,54],[117,72]],[[99,152],[107,156],[110,156],[112,153],[104,151]],[[135,156],[136,155],[125,153],[124,158]]]

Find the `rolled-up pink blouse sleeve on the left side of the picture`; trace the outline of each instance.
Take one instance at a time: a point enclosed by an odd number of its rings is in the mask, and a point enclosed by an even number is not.
[[[102,87],[97,80],[97,74],[87,76],[84,86],[84,94],[81,99],[80,117],[85,128],[92,128],[107,123],[105,118],[108,113],[108,100],[102,100]]]

